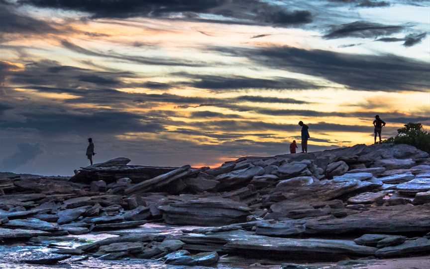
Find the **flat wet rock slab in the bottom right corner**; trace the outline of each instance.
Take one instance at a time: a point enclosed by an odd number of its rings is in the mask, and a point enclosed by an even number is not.
[[[375,256],[379,258],[400,257],[410,254],[424,254],[429,250],[430,240],[418,238],[416,240],[407,240],[401,245],[379,249],[376,251]]]

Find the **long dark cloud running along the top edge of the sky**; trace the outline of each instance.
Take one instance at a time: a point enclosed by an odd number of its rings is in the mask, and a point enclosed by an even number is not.
[[[93,18],[162,17],[182,13],[181,20],[213,23],[273,24],[290,26],[309,23],[307,10],[286,10],[259,0],[19,0],[20,4],[87,12]],[[229,19],[205,19],[199,14],[221,15]],[[177,19],[177,18],[175,18]]]

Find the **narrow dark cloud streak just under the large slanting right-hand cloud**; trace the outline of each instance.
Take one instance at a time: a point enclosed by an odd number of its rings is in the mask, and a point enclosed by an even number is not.
[[[192,82],[184,82],[183,85],[194,88],[218,90],[241,89],[318,89],[320,86],[305,80],[285,77],[273,77],[272,79],[254,78],[246,76],[217,76],[217,75],[192,75],[176,73],[195,79]]]

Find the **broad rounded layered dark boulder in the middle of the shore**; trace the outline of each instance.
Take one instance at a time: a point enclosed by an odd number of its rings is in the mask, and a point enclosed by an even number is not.
[[[159,207],[168,224],[217,226],[246,221],[250,208],[222,198],[201,198]]]

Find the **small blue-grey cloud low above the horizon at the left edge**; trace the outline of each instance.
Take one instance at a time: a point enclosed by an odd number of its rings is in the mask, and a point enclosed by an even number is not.
[[[34,160],[38,155],[43,153],[39,143],[19,143],[16,146],[18,150],[2,160],[1,169],[3,171],[13,171]]]

